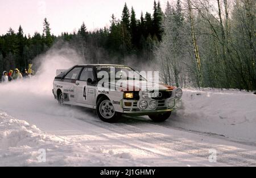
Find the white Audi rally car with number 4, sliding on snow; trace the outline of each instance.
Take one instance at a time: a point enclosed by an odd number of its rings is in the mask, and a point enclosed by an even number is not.
[[[148,115],[162,122],[181,107],[180,88],[149,82],[125,65],[75,65],[57,71],[61,73],[52,92],[59,104],[96,109],[105,122],[116,122],[121,114]]]

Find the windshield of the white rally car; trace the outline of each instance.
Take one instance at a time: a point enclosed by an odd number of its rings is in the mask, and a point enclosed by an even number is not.
[[[104,65],[97,66],[96,69],[98,80],[101,80],[101,78],[109,78],[110,80],[147,81],[146,78],[142,77],[138,72],[126,66]]]

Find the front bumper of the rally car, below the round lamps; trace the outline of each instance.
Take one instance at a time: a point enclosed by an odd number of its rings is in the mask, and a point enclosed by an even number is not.
[[[175,109],[179,109],[177,107],[177,101],[181,102],[180,98],[174,98],[175,100],[175,106],[174,107],[168,107],[168,99],[166,100],[158,100],[158,105],[156,106],[156,109],[139,109],[138,107],[138,100],[121,100],[121,107],[123,112],[125,114],[133,114],[133,115],[148,115],[153,113],[166,113],[168,111],[173,111]],[[127,103],[131,103],[130,106],[127,106]]]

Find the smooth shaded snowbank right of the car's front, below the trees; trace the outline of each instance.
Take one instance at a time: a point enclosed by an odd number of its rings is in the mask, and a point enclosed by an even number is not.
[[[256,95],[239,90],[184,89],[183,109],[171,125],[256,142]]]

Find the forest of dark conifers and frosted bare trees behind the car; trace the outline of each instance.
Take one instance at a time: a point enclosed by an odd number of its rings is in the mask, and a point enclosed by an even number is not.
[[[27,68],[53,45],[68,44],[86,64],[151,66],[168,85],[256,90],[255,7],[254,0],[170,0],[162,9],[152,1],[152,14],[135,14],[125,4],[110,27],[88,31],[81,22],[58,36],[45,18],[42,33],[24,35],[20,25],[0,36],[0,71]]]

